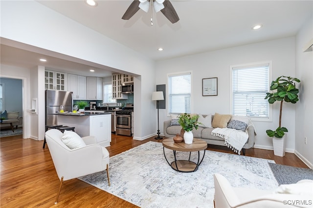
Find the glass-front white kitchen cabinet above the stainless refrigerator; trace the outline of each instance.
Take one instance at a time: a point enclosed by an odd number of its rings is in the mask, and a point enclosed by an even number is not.
[[[45,70],[45,89],[67,91],[67,74]]]

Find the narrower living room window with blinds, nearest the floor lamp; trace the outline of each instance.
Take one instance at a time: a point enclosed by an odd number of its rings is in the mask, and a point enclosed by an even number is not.
[[[168,75],[169,113],[190,113],[191,72]]]

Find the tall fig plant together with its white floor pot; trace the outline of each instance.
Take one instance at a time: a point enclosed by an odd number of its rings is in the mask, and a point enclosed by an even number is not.
[[[295,87],[295,82],[300,83],[300,80],[292,77],[280,76],[270,84],[270,90],[274,92],[267,92],[265,99],[268,99],[269,104],[276,101],[280,102],[279,111],[279,126],[276,130],[266,130],[269,137],[272,137],[274,155],[284,157],[286,149],[286,133],[288,129],[281,126],[283,102],[295,104],[298,99],[299,90]]]

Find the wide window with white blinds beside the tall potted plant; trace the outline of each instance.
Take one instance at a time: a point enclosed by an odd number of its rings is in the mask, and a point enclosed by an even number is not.
[[[230,111],[233,115],[269,121],[271,108],[264,98],[271,80],[271,62],[230,66]]]

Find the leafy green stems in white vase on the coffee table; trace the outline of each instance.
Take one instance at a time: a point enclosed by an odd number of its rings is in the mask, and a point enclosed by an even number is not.
[[[192,144],[194,135],[192,133],[193,129],[198,129],[201,124],[198,122],[199,115],[190,116],[190,114],[184,113],[180,114],[178,117],[178,123],[181,125],[181,128],[185,130],[184,133],[184,142],[185,144]]]

